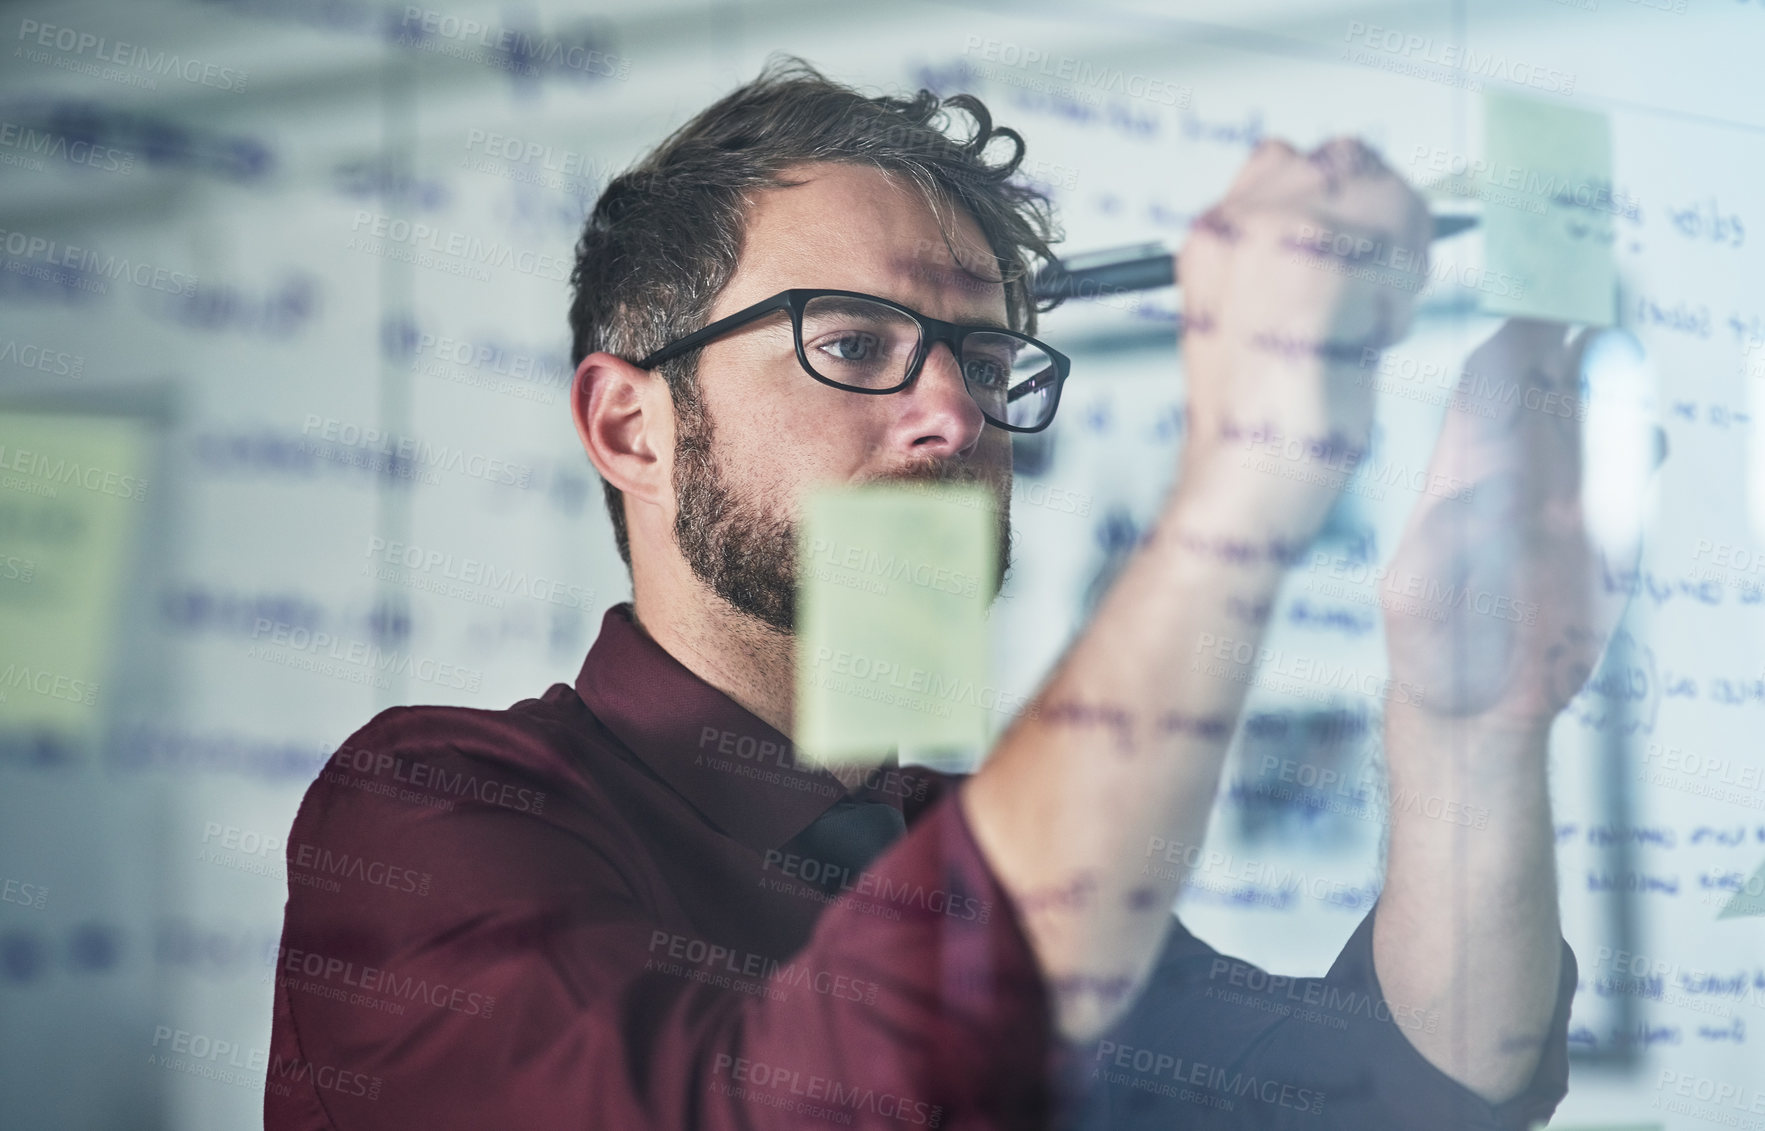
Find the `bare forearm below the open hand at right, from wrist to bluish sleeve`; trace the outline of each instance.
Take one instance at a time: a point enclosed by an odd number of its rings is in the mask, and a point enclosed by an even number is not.
[[[1491,1103],[1537,1069],[1557,1009],[1562,935],[1546,787],[1548,730],[1387,718],[1391,852],[1373,923],[1386,1000],[1405,1029]]]

